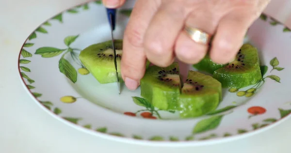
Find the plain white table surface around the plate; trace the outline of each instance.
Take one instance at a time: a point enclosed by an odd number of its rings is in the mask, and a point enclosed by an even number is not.
[[[165,148],[126,144],[80,132],[38,107],[17,71],[19,49],[44,20],[86,0],[0,0],[0,153],[290,153],[291,119],[227,143]],[[273,0],[265,10],[291,25],[291,0]]]

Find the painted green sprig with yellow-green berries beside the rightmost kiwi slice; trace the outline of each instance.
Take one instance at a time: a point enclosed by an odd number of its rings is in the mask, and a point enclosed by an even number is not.
[[[270,73],[273,71],[273,70],[277,70],[277,71],[282,71],[284,70],[283,67],[279,67],[279,61],[278,59],[275,57],[273,58],[271,61],[270,61],[270,65],[273,67],[273,69],[270,71]],[[269,75],[269,76],[265,76],[263,77],[267,72],[268,72],[268,66],[266,65],[262,65],[260,66],[260,70],[261,70],[261,75],[262,75],[262,78],[259,80],[259,82],[257,82],[253,87],[245,90],[245,91],[239,91],[239,89],[236,89],[236,88],[230,88],[228,90],[228,92],[234,92],[237,94],[237,96],[245,96],[245,97],[251,97],[254,95],[254,93],[256,91],[258,91],[258,89],[265,83],[265,79],[266,78],[270,78],[272,80],[275,80],[276,82],[278,83],[281,83],[280,82],[280,77],[279,76],[275,76],[275,75]]]

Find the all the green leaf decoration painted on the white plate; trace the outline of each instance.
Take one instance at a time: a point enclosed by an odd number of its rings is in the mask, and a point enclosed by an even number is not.
[[[101,4],[101,1],[100,0],[97,0],[97,1],[95,1],[95,3],[96,4]],[[67,13],[70,13],[70,14],[76,14],[76,13],[79,12],[78,9],[88,10],[89,9],[89,6],[86,3],[86,4],[83,4],[83,5],[77,6],[74,9],[67,10],[66,12]],[[124,15],[130,16],[131,9],[121,10],[121,13],[124,14]],[[268,16],[262,14],[260,16],[260,18],[262,20],[264,20],[264,21],[267,21]],[[63,13],[60,13],[60,14],[54,16],[52,18],[52,20],[58,20],[60,23],[63,23]],[[275,25],[278,25],[280,23],[271,18],[270,24],[272,26],[275,26]],[[49,23],[47,21],[42,26],[38,27],[34,32],[32,32],[32,34],[29,36],[28,40],[35,39],[37,37],[36,32],[40,32],[40,33],[43,33],[43,34],[47,34],[48,31],[44,28],[45,26],[51,26],[51,23]],[[289,28],[285,27],[283,31],[284,32],[290,32],[291,30]],[[41,55],[44,58],[50,58],[50,57],[58,56],[58,55],[62,54],[63,52],[65,52],[62,55],[62,57],[60,58],[60,61],[59,61],[59,69],[60,69],[60,72],[62,72],[72,82],[76,82],[77,81],[77,71],[65,59],[65,55],[66,54],[70,54],[70,56],[73,59],[73,61],[75,61],[78,65],[81,66],[81,68],[79,68],[79,73],[82,72],[83,75],[85,75],[86,73],[88,73],[88,72],[84,72],[85,70],[82,69],[82,68],[84,68],[84,66],[81,64],[80,61],[77,60],[78,58],[76,56],[76,51],[80,51],[80,49],[71,48],[70,47],[70,44],[73,43],[78,38],[78,36],[79,35],[67,36],[64,39],[64,43],[67,46],[67,48],[65,48],[65,49],[59,49],[59,48],[54,48],[54,47],[41,47],[41,48],[38,48],[36,50],[35,54]],[[19,68],[22,71],[22,72],[20,72],[20,75],[29,82],[29,84],[27,84],[26,86],[30,90],[35,89],[35,87],[32,86],[32,84],[34,83],[34,80],[32,78],[30,78],[29,75],[27,75],[27,74],[29,74],[31,72],[31,69],[29,69],[26,66],[26,64],[31,63],[31,61],[29,60],[29,58],[32,57],[32,54],[30,52],[28,52],[26,50],[26,48],[31,47],[33,45],[34,45],[33,43],[27,43],[27,42],[24,44],[23,48],[21,49],[21,56],[22,56],[22,58],[19,60],[19,63],[21,64],[21,66],[19,66]],[[273,67],[273,69],[271,70],[271,72],[273,70],[281,71],[281,70],[284,69],[282,67],[278,67],[279,61],[276,58],[272,59],[270,61],[270,64]],[[80,70],[83,70],[83,71],[80,71]],[[262,76],[267,72],[267,70],[268,70],[268,67],[267,66],[261,66]],[[276,82],[280,82],[280,78],[278,76],[274,76],[274,75],[266,76],[266,77],[262,78],[262,80],[259,81],[254,86],[254,88],[251,88],[251,89],[255,89],[252,92],[255,92],[259,87],[261,87],[261,82],[264,83],[265,82],[264,79],[267,78],[267,77],[275,80]],[[251,90],[251,89],[249,89],[249,90]],[[250,91],[247,92],[247,93],[250,93]],[[32,92],[32,94],[37,99],[42,96],[42,94],[41,93],[38,93],[38,92]],[[78,98],[80,98],[80,97],[63,96],[63,97],[60,98],[60,101],[62,101],[64,103],[74,103],[74,102],[76,102],[76,100]],[[161,110],[155,109],[144,98],[140,98],[140,97],[132,97],[132,98],[133,98],[133,101],[134,101],[135,104],[146,108],[146,109],[142,109],[142,110],[139,110],[139,111],[135,112],[135,114],[137,114],[139,112],[142,112],[142,111],[149,111],[152,114],[157,115],[158,118],[161,118],[161,116],[159,114],[159,111],[161,111]],[[56,115],[61,115],[62,114],[62,110],[60,108],[58,108],[58,107],[54,107],[53,103],[51,103],[50,101],[39,101],[39,102],[44,107],[46,107],[47,109],[49,109],[50,111],[52,111],[53,113],[55,113]],[[169,141],[183,141],[183,140],[184,141],[193,141],[193,140],[206,140],[206,139],[210,139],[210,138],[216,138],[216,137],[218,137],[218,135],[216,135],[216,134],[210,134],[209,136],[206,136],[206,137],[203,137],[203,138],[199,138],[199,139],[195,139],[195,135],[202,134],[202,133],[205,133],[205,132],[212,131],[212,130],[216,129],[220,125],[221,121],[223,120],[223,117],[225,115],[227,115],[227,114],[222,114],[222,113],[224,113],[226,111],[229,111],[229,110],[231,110],[234,107],[236,107],[236,106],[227,106],[227,107],[224,107],[224,108],[221,108],[221,109],[217,109],[217,110],[214,110],[214,111],[208,113],[207,115],[210,116],[210,117],[207,118],[207,119],[203,119],[203,120],[197,122],[195,124],[193,130],[192,130],[192,134],[189,135],[189,136],[186,136],[184,139],[179,139],[178,137],[175,137],[175,136],[169,136],[168,139],[167,138],[164,138],[162,136],[152,136],[152,137],[148,138],[147,140],[151,140],[151,141],[166,141],[166,140],[169,140]],[[278,111],[279,111],[279,114],[280,114],[280,119],[283,118],[283,117],[285,117],[285,116],[287,116],[288,114],[291,113],[291,109],[278,108]],[[172,111],[170,111],[170,112],[171,113],[174,113]],[[72,122],[74,124],[79,124],[79,121],[82,120],[81,118],[72,118],[72,117],[62,117],[62,118],[65,119],[66,121]],[[260,123],[259,122],[255,122],[255,123],[253,123],[251,125],[252,126],[252,130],[257,130],[259,128],[265,127],[265,126],[267,126],[267,125],[269,125],[269,124],[271,124],[273,122],[276,122],[277,120],[278,119],[275,119],[275,118],[267,118],[267,119],[263,120]],[[106,134],[113,135],[113,136],[117,136],[117,137],[125,137],[121,133],[108,132],[108,129],[107,129],[106,126],[97,127],[97,128],[93,128],[91,124],[84,124],[82,126],[84,128],[87,128],[87,129],[93,129],[93,130],[95,130],[97,132],[106,133]],[[246,133],[246,132],[248,132],[248,130],[246,130],[246,129],[238,129],[237,130],[237,134],[242,134],[242,133]],[[223,134],[223,137],[229,137],[229,136],[232,136],[232,134],[231,133],[228,133],[228,132],[226,132],[225,134]],[[139,136],[139,135],[132,135],[131,138],[133,138],[133,139],[139,139],[139,140],[146,140],[145,138],[143,138],[142,136]]]

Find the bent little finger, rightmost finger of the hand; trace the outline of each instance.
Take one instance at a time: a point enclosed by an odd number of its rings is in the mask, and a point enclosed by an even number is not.
[[[245,11],[224,16],[211,43],[210,59],[221,64],[233,61],[242,46],[246,31],[255,19],[255,15]]]

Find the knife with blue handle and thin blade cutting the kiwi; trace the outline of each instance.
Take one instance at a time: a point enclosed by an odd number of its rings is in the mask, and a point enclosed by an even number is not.
[[[113,39],[113,31],[115,30],[116,9],[106,8],[106,11],[107,11],[107,17],[108,17],[108,20],[109,20],[109,24],[110,24],[110,27],[111,27],[112,48],[113,48],[113,52],[114,52],[114,66],[115,66],[115,71],[116,71],[118,93],[120,94],[119,80],[118,80],[118,73],[117,73],[117,65],[116,65],[116,51],[115,51],[114,39]]]

